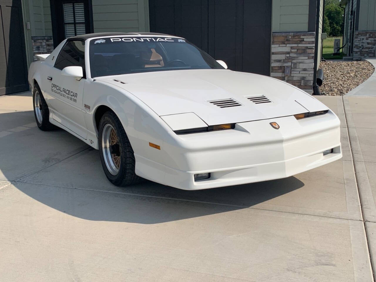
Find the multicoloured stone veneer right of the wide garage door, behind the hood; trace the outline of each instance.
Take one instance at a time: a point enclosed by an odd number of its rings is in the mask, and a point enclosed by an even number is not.
[[[271,77],[312,94],[315,32],[273,32]]]

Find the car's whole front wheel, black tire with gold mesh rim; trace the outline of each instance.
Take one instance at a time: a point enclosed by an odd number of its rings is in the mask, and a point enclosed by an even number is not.
[[[138,182],[132,146],[113,112],[106,112],[100,120],[99,154],[106,177],[112,184],[127,186]]]

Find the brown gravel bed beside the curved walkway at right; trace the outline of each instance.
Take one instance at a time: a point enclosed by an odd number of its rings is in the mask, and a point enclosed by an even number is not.
[[[320,92],[329,96],[342,96],[368,79],[374,68],[367,61],[326,61],[320,63],[324,82]]]

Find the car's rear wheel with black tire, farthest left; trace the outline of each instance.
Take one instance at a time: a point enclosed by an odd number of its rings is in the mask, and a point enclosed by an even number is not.
[[[55,128],[55,126],[49,121],[50,111],[38,84],[35,84],[33,89],[33,108],[35,121],[39,129],[47,131]]]

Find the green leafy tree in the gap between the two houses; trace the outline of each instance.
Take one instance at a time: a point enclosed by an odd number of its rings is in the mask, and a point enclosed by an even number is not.
[[[326,20],[329,25],[329,36],[343,34],[343,9],[340,7],[340,2],[325,5],[324,26]]]

